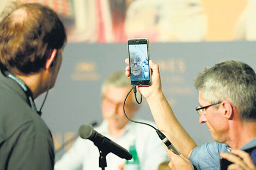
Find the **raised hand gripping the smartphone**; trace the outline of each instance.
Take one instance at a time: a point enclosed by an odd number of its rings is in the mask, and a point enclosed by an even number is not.
[[[129,59],[125,59],[125,63],[129,65]],[[151,68],[151,85],[150,86],[138,86],[139,92],[146,98],[154,97],[162,92],[161,90],[161,78],[159,72],[159,66],[152,60],[149,60],[149,66]],[[130,66],[126,66],[125,74],[130,77]]]

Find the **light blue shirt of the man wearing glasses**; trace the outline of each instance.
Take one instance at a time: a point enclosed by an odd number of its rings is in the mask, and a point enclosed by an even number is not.
[[[256,147],[256,137],[240,149],[246,150],[252,147]],[[231,148],[225,143],[206,143],[194,148],[188,159],[198,170],[218,170],[220,169],[221,152],[231,153]],[[253,153],[251,153],[251,157]]]

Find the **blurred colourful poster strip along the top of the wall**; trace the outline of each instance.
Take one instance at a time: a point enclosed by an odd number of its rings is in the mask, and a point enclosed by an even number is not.
[[[256,0],[21,2],[54,9],[65,24],[69,42],[127,42],[141,37],[150,42],[256,40]]]

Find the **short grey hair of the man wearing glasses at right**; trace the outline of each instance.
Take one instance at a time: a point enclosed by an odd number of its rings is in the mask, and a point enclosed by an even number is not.
[[[194,86],[211,104],[227,100],[236,107],[240,118],[256,121],[256,75],[247,64],[229,60],[205,68]]]

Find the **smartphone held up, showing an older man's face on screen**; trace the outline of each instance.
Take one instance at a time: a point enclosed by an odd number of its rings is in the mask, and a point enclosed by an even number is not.
[[[128,40],[129,64],[131,68],[131,85],[148,86],[151,84],[149,67],[149,40]]]

